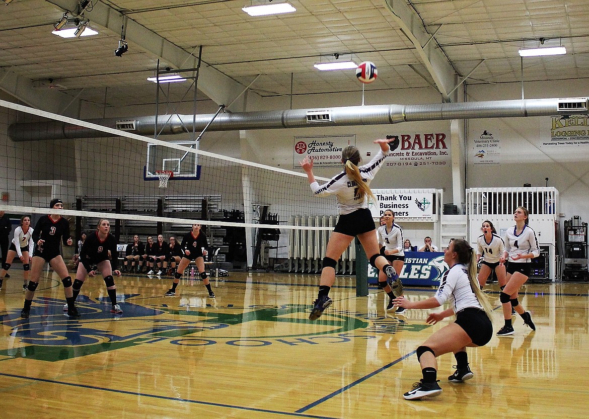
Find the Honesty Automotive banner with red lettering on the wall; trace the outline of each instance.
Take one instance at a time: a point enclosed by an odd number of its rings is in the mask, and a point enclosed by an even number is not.
[[[355,134],[318,135],[294,137],[293,167],[300,169],[300,161],[313,158],[313,167],[342,168],[342,151],[348,145],[356,145]]]

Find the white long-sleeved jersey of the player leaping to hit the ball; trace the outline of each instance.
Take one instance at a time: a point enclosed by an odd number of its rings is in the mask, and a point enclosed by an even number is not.
[[[361,165],[360,175],[366,184],[375,177],[376,172],[379,171],[383,162],[385,161],[385,154],[379,149],[375,157],[370,160],[368,164]],[[368,197],[366,195],[363,199],[358,198],[358,187],[356,182],[342,171],[339,175],[333,177],[327,183],[319,186],[319,183],[313,182],[310,184],[313,193],[319,197],[325,197],[329,194],[335,194],[337,197],[337,209],[340,215],[350,214],[360,208],[368,208]]]

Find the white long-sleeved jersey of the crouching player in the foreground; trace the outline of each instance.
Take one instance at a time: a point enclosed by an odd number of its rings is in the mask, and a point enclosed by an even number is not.
[[[468,280],[468,270],[465,265],[455,264],[449,271],[444,272],[435,299],[439,305],[451,300],[452,310],[458,312],[466,307],[481,308],[477,295],[472,290]]]

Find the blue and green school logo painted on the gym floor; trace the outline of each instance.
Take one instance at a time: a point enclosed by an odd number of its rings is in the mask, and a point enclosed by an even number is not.
[[[310,305],[144,307],[133,303],[137,296],[121,295],[124,315],[115,316],[107,298],[96,301],[80,295],[77,306],[81,317],[75,320],[64,315],[63,300],[38,298],[30,318],[20,318],[20,310],[2,316],[2,325],[11,327],[12,347],[1,350],[0,358],[59,361],[163,341],[186,346],[315,345],[423,328],[398,318],[336,310],[329,310],[319,321],[311,322],[307,318]],[[249,334],[244,334],[243,324],[254,321],[262,323],[252,325]],[[280,325],[267,328],[263,322]],[[317,331],[317,325],[322,326],[321,331]],[[267,334],[265,330],[272,332]]]

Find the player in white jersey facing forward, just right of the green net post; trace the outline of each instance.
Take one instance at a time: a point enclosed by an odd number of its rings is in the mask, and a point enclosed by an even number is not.
[[[384,224],[378,228],[378,244],[380,254],[391,262],[396,272],[401,272],[405,263],[405,252],[403,252],[403,230],[400,225],[395,224],[395,212],[392,209],[385,209],[382,214]],[[388,283],[383,288],[389,296],[389,304],[386,310],[393,310],[395,294]],[[395,314],[403,314],[405,308],[397,307]]]

